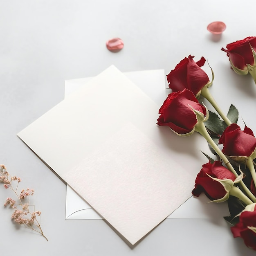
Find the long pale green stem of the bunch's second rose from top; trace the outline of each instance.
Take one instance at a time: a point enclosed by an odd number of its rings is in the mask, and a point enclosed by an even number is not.
[[[212,148],[216,151],[216,153],[219,155],[219,157],[222,159],[222,161],[224,162],[224,164],[227,166],[227,168],[229,169],[229,171],[231,171],[232,173],[234,173],[234,175],[236,175],[236,177],[238,177],[238,174],[236,173],[235,169],[233,168],[233,166],[230,164],[229,160],[227,159],[227,157],[222,153],[222,151],[220,150],[220,148],[218,148],[218,146],[215,144],[215,142],[213,141],[213,139],[211,138],[211,136],[209,135],[209,133],[207,132],[204,123],[200,122],[199,124],[197,124],[195,126],[195,131],[199,132],[204,139],[206,139],[209,144],[212,146]],[[245,183],[241,180],[240,184],[243,188],[243,190],[245,191],[245,193],[247,193],[247,195],[249,196],[249,198],[252,199],[252,201],[256,202],[256,198],[255,196],[252,194],[252,192],[247,188],[247,186],[245,186]]]

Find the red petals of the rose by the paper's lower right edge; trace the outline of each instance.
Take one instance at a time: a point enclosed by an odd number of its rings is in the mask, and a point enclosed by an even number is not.
[[[195,179],[195,188],[192,191],[193,195],[199,196],[204,192],[210,200],[217,200],[227,194],[224,186],[220,182],[213,180],[207,174],[220,180],[236,180],[236,176],[224,167],[220,161],[215,161],[213,164],[209,162],[202,166],[200,173],[198,173]]]

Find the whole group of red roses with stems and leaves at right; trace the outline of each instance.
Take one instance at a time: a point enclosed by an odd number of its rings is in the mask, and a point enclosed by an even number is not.
[[[256,37],[247,37],[223,49],[231,68],[237,74],[251,74],[256,82]],[[193,56],[184,58],[167,75],[168,95],[159,109],[159,126],[168,126],[175,134],[189,136],[199,132],[208,142],[213,157],[195,179],[192,194],[201,193],[212,202],[228,202],[230,216],[224,217],[232,226],[234,238],[241,237],[247,247],[256,250],[256,138],[246,125],[236,123],[238,110],[233,105],[225,115],[209,87],[212,80],[202,70],[205,59],[195,62]],[[217,113],[204,105],[206,99]]]

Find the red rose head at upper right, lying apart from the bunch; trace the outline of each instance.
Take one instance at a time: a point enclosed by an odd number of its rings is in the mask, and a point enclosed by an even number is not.
[[[238,40],[227,45],[227,49],[221,48],[222,51],[227,52],[231,67],[238,74],[247,74],[247,65],[255,65],[253,51],[256,50],[256,37],[249,36],[243,40]]]

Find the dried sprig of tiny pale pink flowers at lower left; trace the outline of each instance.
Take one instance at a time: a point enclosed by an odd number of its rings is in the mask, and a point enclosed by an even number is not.
[[[17,183],[16,188],[13,187],[13,182]],[[0,165],[0,183],[4,183],[4,187],[6,189],[11,189],[18,198],[17,201],[12,198],[7,198],[4,203],[4,207],[9,205],[9,207],[15,209],[11,215],[11,219],[17,224],[23,224],[25,227],[38,232],[48,241],[40,227],[40,221],[36,218],[41,215],[41,212],[35,210],[30,211],[29,209],[29,207],[32,207],[29,204],[29,195],[34,195],[34,189],[22,189],[18,195],[17,190],[20,182],[21,179],[16,176],[12,176],[9,179],[9,173],[6,170],[6,167],[3,164]]]

